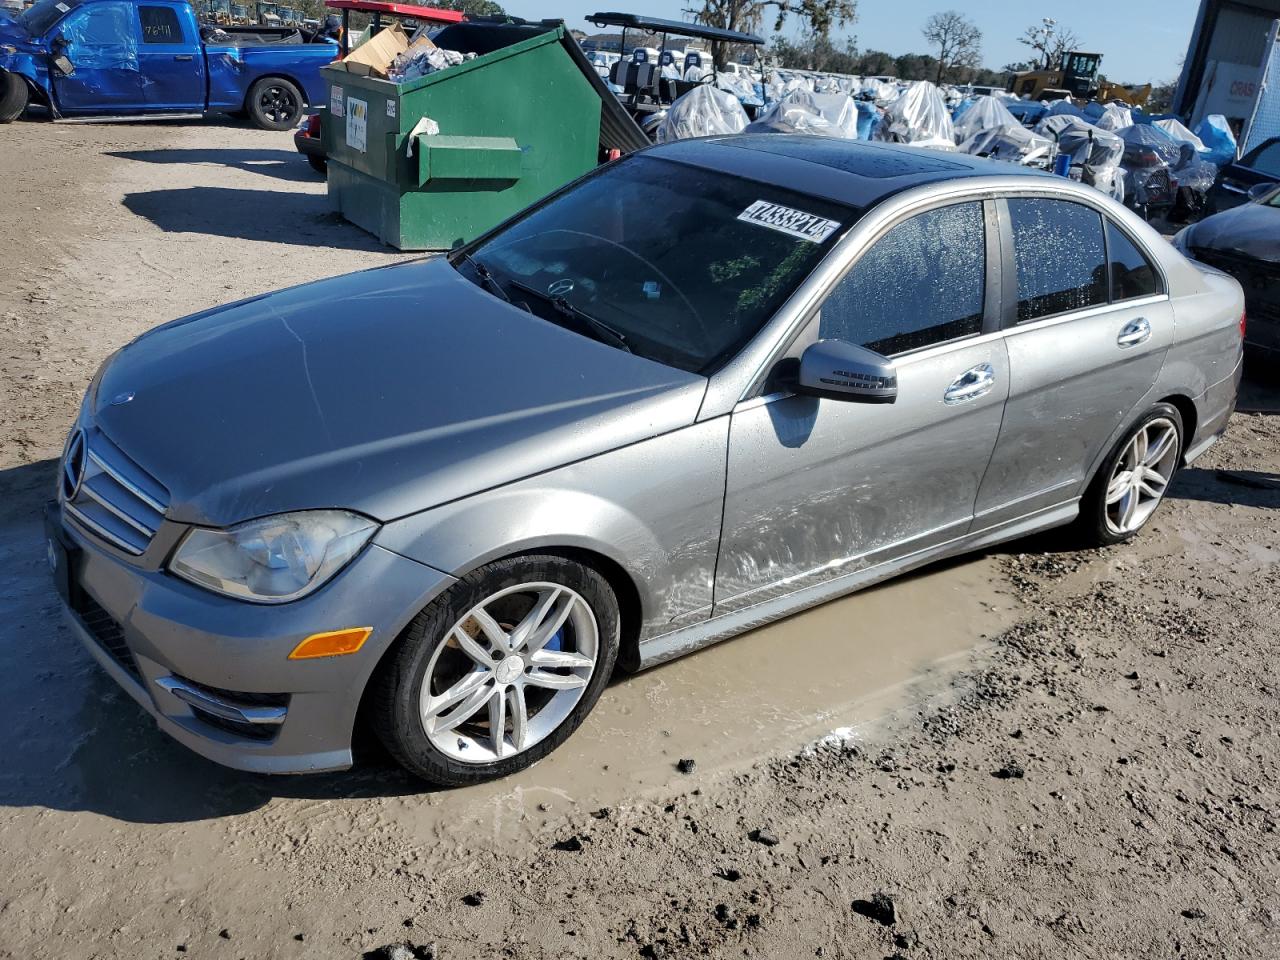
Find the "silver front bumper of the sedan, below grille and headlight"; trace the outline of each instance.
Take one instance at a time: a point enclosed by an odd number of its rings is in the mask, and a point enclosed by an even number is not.
[[[102,549],[45,512],[50,566],[73,631],[169,736],[259,773],[351,765],[365,686],[408,621],[453,577],[370,544],[316,593],[264,605],[219,596]],[[311,634],[372,627],[356,654],[289,660]]]

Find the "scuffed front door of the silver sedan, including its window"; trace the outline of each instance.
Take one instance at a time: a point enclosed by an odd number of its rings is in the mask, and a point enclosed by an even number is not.
[[[716,614],[968,532],[1009,389],[988,212],[969,201],[892,227],[788,355],[842,339],[891,356],[895,403],[774,393],[735,410]]]

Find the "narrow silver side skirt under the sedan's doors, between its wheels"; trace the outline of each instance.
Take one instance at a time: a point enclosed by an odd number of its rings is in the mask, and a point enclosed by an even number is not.
[[[1073,499],[1055,507],[1047,507],[1028,517],[1020,517],[986,530],[977,530],[954,540],[937,544],[936,547],[877,563],[874,567],[867,567],[865,570],[846,573],[833,580],[814,584],[794,594],[774,596],[769,600],[744,607],[681,630],[673,630],[662,636],[655,636],[640,644],[639,669],[673,660],[694,650],[710,646],[721,640],[728,640],[739,634],[745,634],[749,630],[755,630],[776,620],[790,617],[809,607],[817,607],[820,603],[827,603],[873,584],[879,584],[900,573],[906,573],[934,561],[943,559],[945,557],[954,557],[1006,540],[1016,540],[1021,536],[1038,534],[1051,527],[1064,526],[1075,520],[1079,512],[1079,499]]]

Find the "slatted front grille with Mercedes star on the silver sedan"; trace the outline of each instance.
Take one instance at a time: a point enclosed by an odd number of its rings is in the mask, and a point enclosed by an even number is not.
[[[146,552],[169,506],[169,492],[97,430],[72,436],[60,481],[65,515],[134,557]]]

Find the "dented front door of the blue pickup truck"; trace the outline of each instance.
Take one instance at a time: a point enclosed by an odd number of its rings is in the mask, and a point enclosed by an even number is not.
[[[138,63],[136,14],[127,0],[86,4],[54,28],[55,56],[72,69],[51,68],[58,109],[67,114],[128,114],[146,100]]]

